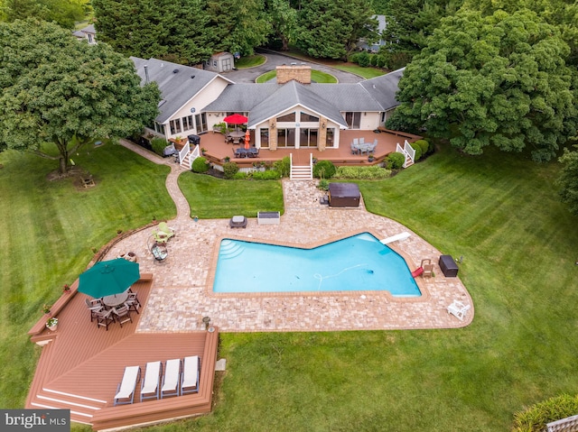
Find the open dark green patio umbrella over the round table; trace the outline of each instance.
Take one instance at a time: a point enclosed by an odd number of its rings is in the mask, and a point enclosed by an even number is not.
[[[126,291],[140,277],[138,262],[101,261],[80,274],[79,291],[95,299],[112,296]]]

